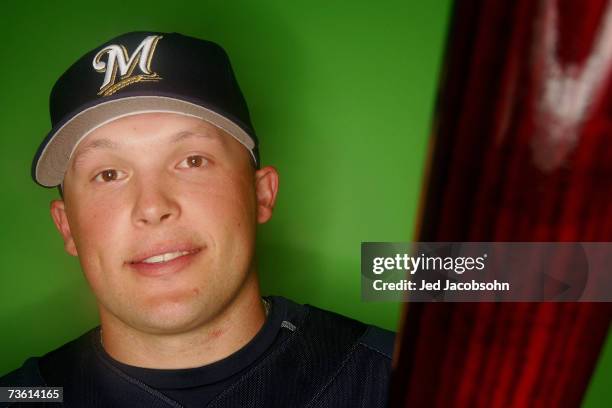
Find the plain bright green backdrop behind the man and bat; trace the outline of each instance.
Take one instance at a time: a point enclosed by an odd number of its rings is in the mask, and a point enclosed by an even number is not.
[[[63,252],[30,180],[48,94],[84,52],[123,32],[220,43],[281,175],[259,231],[265,294],[396,329],[399,305],[360,299],[360,243],[410,241],[449,0],[10,2],[0,26],[0,373],[97,324],[78,261]],[[611,405],[612,344],[587,406]]]

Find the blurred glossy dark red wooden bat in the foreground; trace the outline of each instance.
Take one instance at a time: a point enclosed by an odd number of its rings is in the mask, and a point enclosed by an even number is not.
[[[612,241],[611,80],[611,1],[457,1],[417,240]],[[404,315],[391,406],[571,407],[612,307]]]

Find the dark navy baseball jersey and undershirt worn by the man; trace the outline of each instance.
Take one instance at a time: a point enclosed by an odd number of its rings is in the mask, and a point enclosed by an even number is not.
[[[99,328],[0,378],[0,386],[64,387],[64,402],[36,407],[387,406],[394,333],[311,305],[270,297],[259,333],[203,367],[155,370],[112,359]],[[32,406],[22,403],[6,406]]]

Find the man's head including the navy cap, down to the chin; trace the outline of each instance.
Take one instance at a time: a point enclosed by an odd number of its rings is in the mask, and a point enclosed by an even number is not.
[[[216,44],[129,33],[58,80],[33,162],[105,322],[173,333],[258,292],[255,230],[278,189]]]

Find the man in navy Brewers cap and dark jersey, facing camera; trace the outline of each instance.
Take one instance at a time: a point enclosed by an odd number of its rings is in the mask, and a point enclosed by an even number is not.
[[[70,407],[382,407],[393,334],[260,296],[278,174],[216,44],[133,32],[55,84],[32,166],[100,327],[3,377]]]

